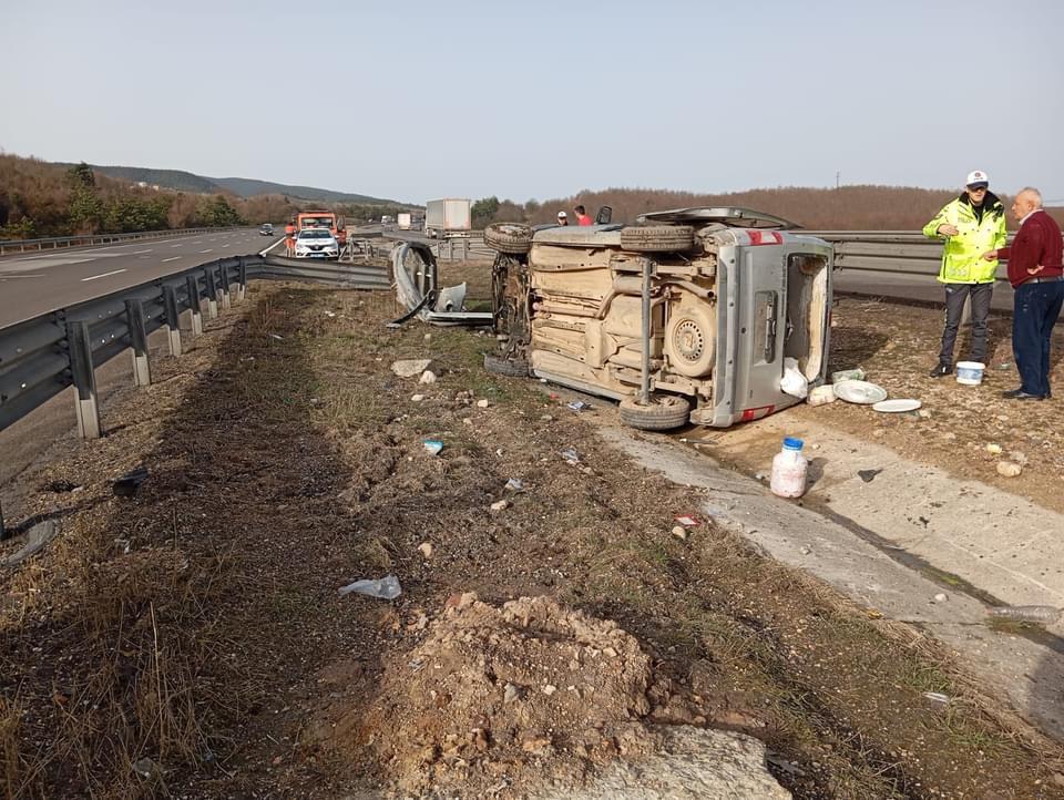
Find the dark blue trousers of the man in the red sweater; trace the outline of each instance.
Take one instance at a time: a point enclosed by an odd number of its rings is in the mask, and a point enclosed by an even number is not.
[[[1064,281],[1021,284],[1012,312],[1012,355],[1020,388],[1029,394],[1050,393],[1050,339],[1064,305]]]

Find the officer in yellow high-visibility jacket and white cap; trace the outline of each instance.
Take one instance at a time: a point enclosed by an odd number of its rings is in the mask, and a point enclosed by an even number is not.
[[[932,378],[953,371],[953,346],[961,325],[964,301],[972,302],[971,361],[986,360],[986,317],[994,290],[998,259],[985,259],[983,254],[1005,246],[1005,208],[993,192],[986,173],[975,170],[968,174],[964,191],[948,203],[923,226],[923,235],[944,239],[939,283],[945,285],[945,327],[939,362],[931,370]]]

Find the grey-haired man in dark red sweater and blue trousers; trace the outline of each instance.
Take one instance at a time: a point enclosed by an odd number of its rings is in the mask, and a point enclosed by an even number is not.
[[[1009,283],[1015,290],[1012,312],[1012,352],[1020,370],[1020,388],[1002,392],[1010,400],[1045,400],[1050,390],[1050,339],[1064,305],[1061,267],[1061,227],[1042,208],[1042,195],[1027,186],[1016,195],[1012,214],[1020,232],[1011,247],[983,254],[1009,259]]]

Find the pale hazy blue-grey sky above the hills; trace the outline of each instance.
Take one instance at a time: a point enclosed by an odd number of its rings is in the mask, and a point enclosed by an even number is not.
[[[1064,201],[1064,1],[0,0],[0,148],[423,203]]]

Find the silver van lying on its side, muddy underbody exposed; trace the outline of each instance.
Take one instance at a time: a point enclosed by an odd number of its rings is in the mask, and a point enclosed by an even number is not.
[[[621,402],[635,428],[726,428],[798,402],[784,360],[825,379],[831,246],[746,208],[635,225],[484,232],[500,340],[484,366]]]

